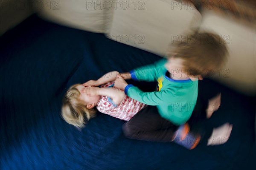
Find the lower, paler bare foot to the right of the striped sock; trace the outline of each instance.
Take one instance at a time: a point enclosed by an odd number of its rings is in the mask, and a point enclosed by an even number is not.
[[[212,136],[208,139],[208,145],[224,144],[230,137],[233,125],[225,123],[220,127],[213,129]]]

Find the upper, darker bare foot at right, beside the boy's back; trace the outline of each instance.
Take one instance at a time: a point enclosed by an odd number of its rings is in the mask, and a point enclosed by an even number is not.
[[[217,111],[221,105],[221,93],[217,96],[209,99],[208,106],[206,109],[206,117],[209,119],[212,116],[212,113]]]

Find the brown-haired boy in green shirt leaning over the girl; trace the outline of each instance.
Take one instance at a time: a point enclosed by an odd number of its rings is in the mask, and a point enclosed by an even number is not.
[[[139,102],[151,105],[123,125],[125,136],[147,141],[173,141],[177,136],[177,127],[189,120],[195,108],[198,97],[197,80],[217,71],[225,63],[228,52],[223,42],[215,34],[195,34],[187,37],[185,42],[174,44],[175,48],[169,51],[167,59],[118,76],[116,88],[124,90],[125,94]],[[154,92],[143,92],[128,85],[123,78],[157,81],[157,89]],[[228,134],[232,125],[228,124],[224,128]],[[189,126],[185,124],[182,139],[188,131]],[[199,140],[196,139],[191,148]]]

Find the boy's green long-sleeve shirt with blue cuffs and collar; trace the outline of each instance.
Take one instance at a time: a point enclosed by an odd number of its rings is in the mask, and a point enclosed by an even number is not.
[[[151,65],[146,65],[130,71],[131,77],[138,81],[157,81],[154,92],[143,92],[133,85],[125,87],[125,93],[139,102],[156,105],[159,114],[175,125],[184,124],[195,108],[198,96],[198,81],[174,80],[164,67],[166,59],[160,59]]]

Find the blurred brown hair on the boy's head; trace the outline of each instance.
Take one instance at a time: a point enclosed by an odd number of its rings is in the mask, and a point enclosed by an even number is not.
[[[227,60],[228,50],[221,36],[212,33],[198,33],[171,45],[167,52],[169,60],[181,63],[182,70],[168,70],[189,77],[207,77],[220,69]],[[170,62],[171,63],[171,62]],[[171,69],[171,67],[169,67]]]

